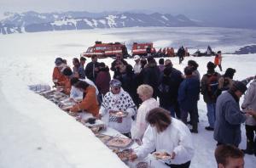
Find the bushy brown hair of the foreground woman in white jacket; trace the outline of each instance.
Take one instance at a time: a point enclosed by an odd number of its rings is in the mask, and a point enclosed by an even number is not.
[[[146,120],[150,125],[156,126],[157,132],[164,132],[171,124],[169,111],[162,108],[151,109],[148,112]]]

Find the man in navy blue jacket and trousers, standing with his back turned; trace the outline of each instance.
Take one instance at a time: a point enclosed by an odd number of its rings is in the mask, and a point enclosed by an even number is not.
[[[184,124],[187,124],[188,114],[190,115],[192,130],[191,132],[198,133],[197,130],[197,101],[200,92],[200,81],[192,76],[193,70],[190,67],[184,69],[186,78],[178,88],[177,101],[181,109],[181,119]]]

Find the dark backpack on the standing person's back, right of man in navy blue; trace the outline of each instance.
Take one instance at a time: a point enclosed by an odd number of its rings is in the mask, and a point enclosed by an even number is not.
[[[215,72],[212,75],[207,75],[207,93],[210,98],[217,98],[218,92],[218,74]]]

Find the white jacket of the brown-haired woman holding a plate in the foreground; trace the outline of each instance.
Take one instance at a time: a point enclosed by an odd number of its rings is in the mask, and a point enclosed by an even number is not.
[[[170,126],[164,132],[157,132],[155,127],[148,126],[144,133],[143,145],[137,149],[139,158],[146,157],[149,153],[166,151],[168,154],[174,152],[175,158],[171,160],[174,165],[188,162],[194,156],[194,147],[189,128],[182,121],[172,118]]]

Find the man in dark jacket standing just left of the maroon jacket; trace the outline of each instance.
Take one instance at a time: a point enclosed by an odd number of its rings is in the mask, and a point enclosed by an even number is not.
[[[90,79],[90,81],[96,81],[97,68],[99,63],[97,62],[97,56],[91,56],[91,62],[88,63],[85,67],[85,76]]]

